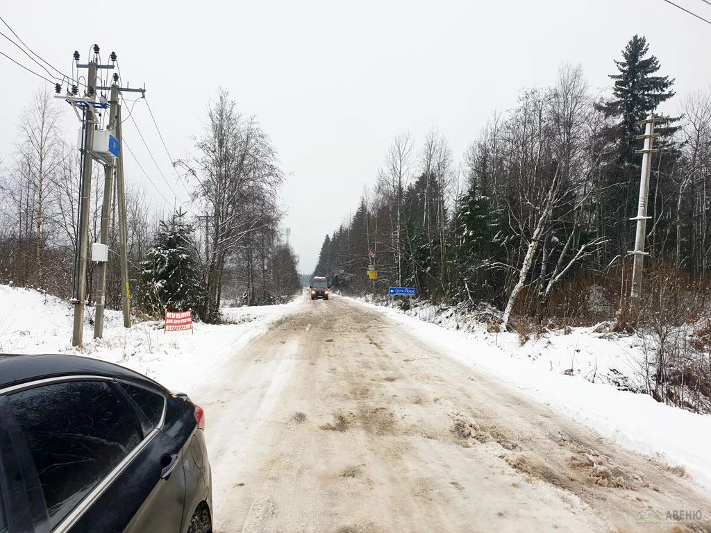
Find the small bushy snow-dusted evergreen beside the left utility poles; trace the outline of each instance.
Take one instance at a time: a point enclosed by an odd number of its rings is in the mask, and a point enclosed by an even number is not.
[[[141,262],[145,301],[152,314],[192,309],[195,318],[215,318],[203,316],[205,291],[193,231],[180,213],[170,222],[160,222],[154,245]]]

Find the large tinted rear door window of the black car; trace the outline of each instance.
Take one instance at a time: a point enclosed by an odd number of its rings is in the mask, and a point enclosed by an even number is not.
[[[107,382],[53,383],[9,395],[55,527],[143,438]]]

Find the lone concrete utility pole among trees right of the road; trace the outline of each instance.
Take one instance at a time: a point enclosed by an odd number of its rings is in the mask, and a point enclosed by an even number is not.
[[[637,216],[630,220],[637,221],[637,233],[634,240],[634,250],[630,252],[634,254],[634,266],[632,269],[632,288],[630,294],[631,313],[633,318],[636,318],[639,313],[639,304],[642,295],[642,271],[644,268],[644,256],[648,255],[644,251],[644,239],[647,232],[647,197],[649,195],[649,174],[651,172],[652,154],[656,154],[657,150],[652,146],[654,139],[658,138],[659,134],[654,133],[654,124],[663,122],[664,119],[649,115],[646,120],[638,122],[645,124],[644,135],[639,135],[636,139],[644,139],[644,148],[635,150],[635,154],[642,154],[642,174],[639,181],[639,206]]]

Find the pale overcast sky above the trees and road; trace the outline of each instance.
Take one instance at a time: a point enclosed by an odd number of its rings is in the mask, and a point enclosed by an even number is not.
[[[675,1],[711,19],[701,0]],[[124,0],[85,8],[2,0],[0,15],[60,70],[69,70],[75,49],[82,60],[93,43],[102,57],[116,51],[123,81],[146,83],[173,158],[191,149],[208,99],[227,87],[242,112],[260,119],[289,173],[284,225],[304,272],[314,269],[324,235],[373,184],[396,134],[420,141],[437,127],[461,157],[494,109],[512,107],[521,87],[552,84],[562,62],[582,63],[593,90],[608,87],[612,62],[634,33],[677,79],[678,103],[711,82],[711,26],[663,0]],[[0,51],[39,70],[1,37]],[[2,158],[19,109],[43,82],[3,57],[0,80]],[[144,104],[134,117],[175,183]],[[68,139],[78,125],[67,112]],[[132,124],[124,136],[172,201]],[[145,181],[130,158],[127,175]],[[186,201],[181,185],[174,190]]]

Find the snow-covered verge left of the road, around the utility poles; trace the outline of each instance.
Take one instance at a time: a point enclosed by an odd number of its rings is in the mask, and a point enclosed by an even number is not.
[[[169,389],[191,392],[210,370],[221,365],[273,321],[291,312],[279,306],[226,308],[226,325],[195,323],[190,331],[165,333],[162,322],[123,327],[119,311],[105,313],[104,338],[94,339],[94,309],[87,308],[84,347],[71,345],[73,307],[55,296],[0,285],[0,352],[70,353],[114,362],[156,379]]]

